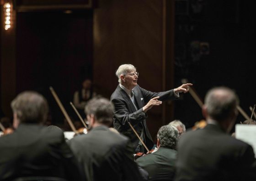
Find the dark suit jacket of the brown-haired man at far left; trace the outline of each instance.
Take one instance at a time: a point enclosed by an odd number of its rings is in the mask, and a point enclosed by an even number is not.
[[[20,124],[0,137],[0,180],[25,176],[55,176],[80,181],[78,163],[60,130]]]

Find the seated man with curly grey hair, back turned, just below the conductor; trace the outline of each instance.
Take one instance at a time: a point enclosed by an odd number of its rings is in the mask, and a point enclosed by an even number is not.
[[[172,180],[175,173],[176,143],[178,130],[171,125],[162,126],[157,133],[158,150],[136,160],[149,173],[151,180]]]

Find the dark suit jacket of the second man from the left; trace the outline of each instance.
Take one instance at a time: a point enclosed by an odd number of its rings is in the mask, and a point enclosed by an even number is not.
[[[88,181],[139,181],[133,149],[127,137],[98,126],[69,141]]]

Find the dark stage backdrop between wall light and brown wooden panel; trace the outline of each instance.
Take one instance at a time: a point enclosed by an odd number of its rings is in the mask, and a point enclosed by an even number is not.
[[[83,78],[91,78],[92,16],[92,10],[17,13],[16,92],[42,93],[48,99],[53,124],[63,123],[64,117],[49,86],[73,115],[69,101]]]

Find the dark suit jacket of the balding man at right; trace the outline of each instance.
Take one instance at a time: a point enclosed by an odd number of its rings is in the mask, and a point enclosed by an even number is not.
[[[213,124],[181,136],[176,167],[176,181],[256,180],[252,147]]]

